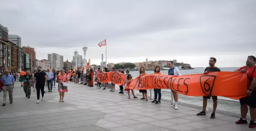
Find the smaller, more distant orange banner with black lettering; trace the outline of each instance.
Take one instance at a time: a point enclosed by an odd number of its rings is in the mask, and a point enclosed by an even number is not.
[[[99,73],[97,77],[97,81],[101,83],[112,82],[116,85],[124,85],[125,84],[125,74],[114,71],[114,72],[105,72]]]

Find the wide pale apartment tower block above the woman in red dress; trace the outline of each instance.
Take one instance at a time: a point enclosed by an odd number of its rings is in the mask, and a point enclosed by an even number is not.
[[[56,69],[56,71],[63,69],[63,55],[56,53],[48,54],[48,60],[50,61],[50,69]]]

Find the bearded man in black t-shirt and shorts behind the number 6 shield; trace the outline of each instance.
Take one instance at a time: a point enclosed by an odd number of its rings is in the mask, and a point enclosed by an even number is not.
[[[220,71],[220,69],[218,67],[215,66],[216,64],[216,58],[214,57],[210,57],[210,60],[209,60],[209,67],[206,67],[206,69],[204,70],[204,74],[208,74],[209,72],[218,72]],[[205,116],[206,113],[205,113],[205,109],[206,109],[206,106],[207,106],[207,100],[208,99],[213,99],[213,113],[211,113],[211,117],[210,118],[215,118],[215,111],[216,111],[216,108],[217,108],[217,96],[203,96],[203,110],[196,114],[197,116]]]

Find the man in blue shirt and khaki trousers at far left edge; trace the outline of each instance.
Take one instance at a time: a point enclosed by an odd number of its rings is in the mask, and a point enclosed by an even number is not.
[[[12,104],[12,91],[14,88],[14,77],[10,75],[9,70],[5,70],[5,75],[2,76],[1,81],[3,83],[3,106],[6,103],[7,92],[9,93],[9,101]]]

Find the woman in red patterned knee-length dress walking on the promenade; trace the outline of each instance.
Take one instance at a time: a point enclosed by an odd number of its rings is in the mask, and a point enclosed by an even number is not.
[[[64,102],[64,95],[65,92],[67,92],[67,86],[65,84],[68,82],[67,75],[64,73],[64,69],[61,69],[60,73],[58,74],[57,81],[59,82],[58,92],[60,92],[59,102]]]

